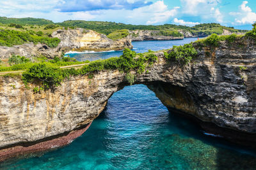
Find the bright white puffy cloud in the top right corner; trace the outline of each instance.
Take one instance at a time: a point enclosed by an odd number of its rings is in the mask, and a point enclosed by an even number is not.
[[[256,21],[256,13],[246,4],[248,4],[248,1],[243,1],[239,6],[239,12],[230,13],[230,15],[236,16],[237,24],[253,24]]]

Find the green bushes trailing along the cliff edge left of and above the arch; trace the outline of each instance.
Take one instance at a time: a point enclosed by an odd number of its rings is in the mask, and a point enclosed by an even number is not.
[[[59,62],[55,59],[56,62]],[[131,75],[131,71],[135,71],[140,74],[145,72],[147,67],[150,67],[152,62],[156,62],[156,55],[147,55],[137,57],[136,52],[129,49],[125,49],[123,55],[120,57],[113,57],[106,60],[96,60],[90,62],[88,65],[84,65],[81,69],[60,69],[52,65],[51,63],[42,62],[33,64],[29,69],[22,74],[22,80],[25,84],[28,83],[42,83],[42,87],[49,89],[60,85],[61,81],[69,76],[88,75],[88,78],[93,78],[93,74],[99,71],[118,69],[127,73],[127,81],[134,83],[134,76]],[[34,89],[38,91],[38,89]]]

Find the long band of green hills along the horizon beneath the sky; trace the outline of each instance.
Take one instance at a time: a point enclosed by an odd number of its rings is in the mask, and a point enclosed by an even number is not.
[[[194,27],[184,25],[131,25],[116,22],[100,22],[100,21],[84,21],[84,20],[67,20],[60,23],[54,23],[51,20],[42,18],[6,18],[0,17],[0,29],[14,30],[21,32],[33,31],[39,36],[50,36],[50,34],[58,29],[74,29],[81,27],[84,29],[92,29],[94,31],[106,34],[111,39],[120,39],[128,35],[128,30],[157,30],[156,36],[182,36],[178,31],[185,30],[191,32],[194,36],[209,36],[211,34],[222,34],[223,29],[230,32],[247,32],[244,30],[237,30],[234,27],[225,27],[220,24],[199,24]],[[0,35],[1,36],[1,35]],[[152,35],[154,36],[154,35]],[[3,38],[0,37],[3,40]]]

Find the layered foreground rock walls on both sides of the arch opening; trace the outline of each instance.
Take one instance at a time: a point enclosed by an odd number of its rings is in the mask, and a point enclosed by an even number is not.
[[[166,62],[163,53],[157,53],[157,63],[148,73],[136,75],[136,83],[147,85],[168,109],[200,120],[207,131],[255,146],[255,47],[248,41],[198,47],[199,57],[186,66]],[[103,71],[34,94],[19,78],[1,77],[0,160],[70,143],[125,85],[124,73]]]

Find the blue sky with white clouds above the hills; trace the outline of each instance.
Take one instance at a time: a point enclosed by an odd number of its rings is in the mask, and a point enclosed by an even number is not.
[[[188,26],[216,22],[237,29],[252,29],[256,22],[255,0],[8,0],[0,1],[0,6],[2,17],[54,22],[99,20]]]

